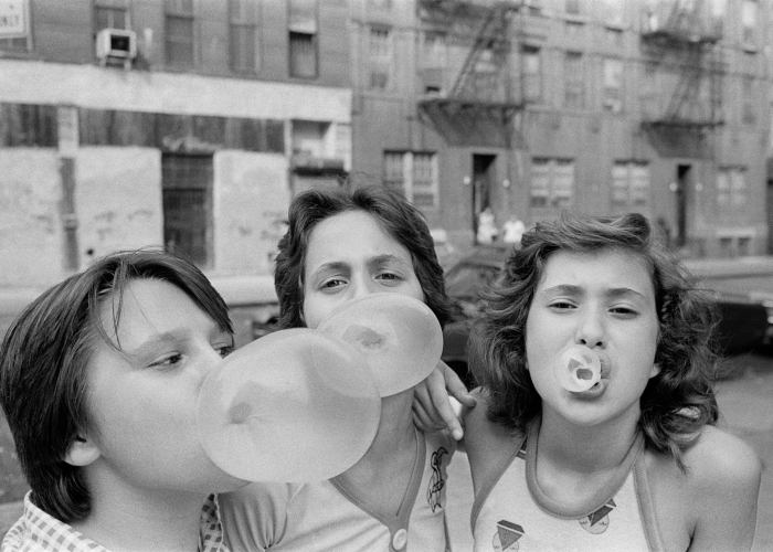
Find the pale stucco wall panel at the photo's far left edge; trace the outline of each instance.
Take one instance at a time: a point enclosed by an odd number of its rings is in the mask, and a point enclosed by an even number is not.
[[[54,150],[0,152],[0,285],[44,286],[63,274],[60,182]]]

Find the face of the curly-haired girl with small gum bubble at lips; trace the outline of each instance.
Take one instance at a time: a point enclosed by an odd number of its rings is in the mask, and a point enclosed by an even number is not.
[[[543,413],[591,426],[637,421],[639,397],[658,373],[658,319],[650,269],[623,250],[553,253],[544,265],[526,322],[528,368]],[[553,367],[579,344],[602,359],[602,380],[572,393],[558,384]]]

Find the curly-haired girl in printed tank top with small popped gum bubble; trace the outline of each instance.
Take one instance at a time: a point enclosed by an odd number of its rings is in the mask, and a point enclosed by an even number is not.
[[[644,216],[527,232],[470,341],[475,550],[750,549],[760,461],[713,426],[710,323]]]

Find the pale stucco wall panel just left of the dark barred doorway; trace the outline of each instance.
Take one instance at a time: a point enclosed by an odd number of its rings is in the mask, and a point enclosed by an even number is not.
[[[159,150],[81,148],[75,171],[81,267],[115,250],[163,244]]]

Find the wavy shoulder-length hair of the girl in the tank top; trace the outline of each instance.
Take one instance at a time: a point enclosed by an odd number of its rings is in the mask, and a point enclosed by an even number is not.
[[[656,241],[637,213],[591,217],[562,213],[523,234],[500,278],[485,294],[484,315],[470,338],[469,364],[490,396],[489,420],[525,431],[541,411],[526,365],[526,320],[548,258],[557,251],[617,250],[638,255],[655,288],[659,338],[655,361],[660,372],[642,394],[639,425],[649,447],[681,464],[681,450],[700,428],[717,421],[711,386],[716,355],[711,332],[716,314],[709,297],[692,287],[689,274]]]

